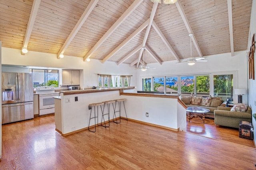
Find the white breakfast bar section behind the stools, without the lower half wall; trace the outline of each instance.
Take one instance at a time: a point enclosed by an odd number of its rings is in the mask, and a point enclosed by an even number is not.
[[[134,89],[135,87],[118,87],[60,91],[60,96],[54,98],[56,131],[66,136],[87,129],[91,111],[88,109],[89,104],[120,99],[119,90],[133,93]],[[112,113],[113,109],[110,111]],[[98,119],[101,120],[100,111]]]

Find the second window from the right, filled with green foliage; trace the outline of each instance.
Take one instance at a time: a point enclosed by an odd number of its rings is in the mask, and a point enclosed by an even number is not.
[[[210,76],[196,76],[196,96],[210,96]]]

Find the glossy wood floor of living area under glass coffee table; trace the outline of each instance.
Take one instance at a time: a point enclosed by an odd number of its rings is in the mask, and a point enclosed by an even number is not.
[[[190,122],[187,119],[186,132],[255,148],[252,140],[239,137],[238,129],[224,126],[216,127],[214,119],[206,118],[205,123],[199,118],[193,118]]]

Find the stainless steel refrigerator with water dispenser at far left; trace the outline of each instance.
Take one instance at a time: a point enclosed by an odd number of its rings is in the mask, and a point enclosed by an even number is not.
[[[32,74],[2,72],[2,124],[32,118]]]

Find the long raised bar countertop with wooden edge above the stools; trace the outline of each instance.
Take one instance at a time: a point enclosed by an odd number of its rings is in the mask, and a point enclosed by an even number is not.
[[[99,89],[84,89],[84,90],[67,90],[67,91],[60,91],[63,95],[72,95],[72,94],[84,94],[84,93],[97,93],[97,92],[109,92],[109,91],[116,91],[116,90],[129,90],[134,89],[134,86],[131,87],[112,87],[112,88],[99,88]]]

